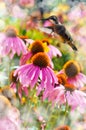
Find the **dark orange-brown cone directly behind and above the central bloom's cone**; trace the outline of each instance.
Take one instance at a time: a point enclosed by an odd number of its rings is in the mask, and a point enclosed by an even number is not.
[[[30,50],[33,55],[38,52],[44,52],[43,43],[41,41],[36,40],[32,43]]]

